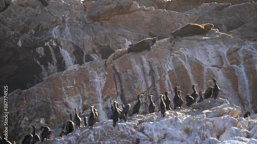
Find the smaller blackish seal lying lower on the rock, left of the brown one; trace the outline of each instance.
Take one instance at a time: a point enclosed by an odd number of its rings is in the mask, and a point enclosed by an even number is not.
[[[127,53],[129,52],[140,52],[143,50],[150,51],[152,49],[152,46],[157,41],[157,37],[154,38],[145,38],[141,40],[140,42],[136,43],[135,45],[130,45],[131,47],[127,48]]]

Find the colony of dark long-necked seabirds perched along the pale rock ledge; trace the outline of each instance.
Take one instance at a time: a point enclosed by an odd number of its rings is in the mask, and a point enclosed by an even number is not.
[[[213,81],[214,83],[214,87],[209,87],[207,88],[207,90],[205,91],[205,93],[203,91],[200,91],[199,93],[197,93],[197,91],[195,90],[195,86],[192,86],[193,89],[193,93],[187,94],[186,96],[186,102],[187,102],[187,106],[191,106],[194,103],[198,103],[201,102],[205,99],[210,98],[211,96],[213,96],[214,99],[217,99],[218,97],[218,93],[219,93],[219,87],[216,83],[216,79],[212,78],[210,79]],[[210,81],[209,80],[209,81]],[[175,87],[174,91],[175,91],[175,96],[173,98],[173,103],[174,103],[174,110],[176,110],[177,108],[181,108],[181,105],[183,104],[183,99],[180,95],[180,90],[178,90],[179,87]],[[171,100],[168,97],[168,93],[169,92],[165,92],[164,95],[160,95],[160,104],[159,104],[159,111],[161,112],[161,117],[165,116],[166,111],[171,110],[170,104],[171,104]],[[203,95],[204,94],[204,95]],[[150,95],[150,104],[149,104],[149,113],[154,113],[155,111],[155,104],[152,100],[152,96]],[[199,100],[196,102],[197,97],[199,96]],[[137,103],[134,105],[133,109],[132,109],[132,113],[130,115],[133,114],[138,114],[139,113],[139,109],[141,106],[141,101],[140,101],[140,97],[141,95],[137,96]],[[131,109],[131,105],[130,104],[126,104],[125,106],[122,105],[123,110],[120,110],[119,108],[119,104],[117,101],[114,101],[113,105],[111,102],[111,110],[112,110],[112,114],[111,114],[111,119],[113,119],[113,127],[115,127],[118,124],[118,120],[120,118],[124,119],[124,121],[126,120],[127,114]],[[88,125],[88,128],[91,130],[93,129],[93,126],[96,124],[97,119],[98,119],[98,112],[97,109],[94,108],[94,106],[90,107],[90,116],[88,117],[88,119],[86,120],[86,117],[84,117],[84,126],[86,127]],[[244,117],[249,117],[250,116],[250,112],[246,112],[246,114],[244,115]],[[82,127],[82,120],[81,117],[78,115],[78,111],[77,108],[75,108],[75,116],[74,119],[72,120],[72,116],[71,116],[71,120],[67,120],[66,122],[66,126],[65,126],[65,131],[61,131],[59,137],[63,139],[64,135],[69,135],[71,134],[76,127],[81,128]],[[76,126],[76,127],[75,127]],[[41,137],[35,133],[35,126],[32,126],[33,132],[32,134],[27,134],[23,141],[22,144],[33,144],[36,143],[38,141],[43,141],[43,140],[47,140],[47,138],[49,136],[51,136],[52,132],[50,131],[49,127],[47,126],[42,126],[40,128],[40,130],[42,131],[41,133]],[[4,133],[2,132],[1,137],[0,137],[0,144],[2,143],[11,143],[10,141],[6,140],[4,137]],[[15,141],[13,142],[15,143]]]

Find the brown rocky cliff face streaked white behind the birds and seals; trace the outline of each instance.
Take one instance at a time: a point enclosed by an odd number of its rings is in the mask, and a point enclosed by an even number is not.
[[[198,92],[213,86],[208,81],[213,77],[220,97],[243,114],[253,113],[257,4],[203,2],[183,13],[163,9],[175,2],[151,1],[151,7],[125,0],[48,1],[46,7],[37,0],[0,2],[5,3],[0,8],[0,83],[13,91],[8,98],[10,139],[22,138],[31,124],[40,126],[41,117],[49,127],[62,128],[74,108],[88,116],[94,105],[99,120],[107,121],[109,101],[134,106],[138,94],[144,95],[140,113],[146,114],[148,95],[158,106],[165,91],[173,98],[174,87],[180,86],[185,98],[193,84]],[[172,46],[167,37],[187,23],[212,23],[214,29]],[[151,36],[159,39],[151,51],[127,53],[129,44]]]

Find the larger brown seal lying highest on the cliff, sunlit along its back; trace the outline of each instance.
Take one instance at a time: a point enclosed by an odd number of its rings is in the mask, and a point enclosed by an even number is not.
[[[171,33],[170,42],[173,41],[174,37],[177,38],[178,42],[181,42],[180,36],[189,36],[189,35],[200,35],[205,34],[213,28],[213,24],[192,24],[188,23],[182,28],[176,29]]]

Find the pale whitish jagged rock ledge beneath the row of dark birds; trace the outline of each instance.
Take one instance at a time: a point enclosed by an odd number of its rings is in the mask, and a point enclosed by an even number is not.
[[[192,107],[128,117],[116,127],[112,120],[98,122],[93,130],[81,128],[64,140],[39,143],[219,143],[229,140],[257,142],[257,120],[240,118],[241,108],[228,100],[205,99]]]

